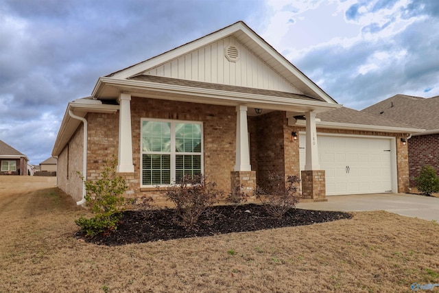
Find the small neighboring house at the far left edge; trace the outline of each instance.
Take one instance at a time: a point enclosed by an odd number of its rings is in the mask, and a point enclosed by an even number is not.
[[[0,175],[27,175],[27,156],[0,140]]]

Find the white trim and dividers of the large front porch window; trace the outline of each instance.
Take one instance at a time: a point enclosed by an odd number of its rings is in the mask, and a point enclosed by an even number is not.
[[[199,154],[201,156],[201,174],[204,174],[204,127],[202,121],[189,121],[189,120],[174,120],[174,119],[156,119],[156,118],[141,118],[140,119],[140,187],[168,187],[175,183],[176,179],[176,124],[186,123],[186,124],[198,124],[201,126],[201,152],[178,152],[182,155],[193,155]],[[143,185],[143,154],[169,154],[169,152],[143,152],[143,121],[157,121],[165,122],[171,124],[171,184],[163,185]]]

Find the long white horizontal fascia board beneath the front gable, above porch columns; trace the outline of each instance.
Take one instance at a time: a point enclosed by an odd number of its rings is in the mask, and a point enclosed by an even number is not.
[[[298,106],[300,108],[307,107],[309,110],[331,110],[341,108],[341,104],[329,104],[327,102],[309,101],[307,99],[292,99],[289,97],[272,97],[266,95],[257,95],[252,93],[239,93],[222,91],[217,89],[203,89],[191,86],[180,86],[176,84],[162,84],[157,82],[139,82],[137,80],[116,80],[115,78],[99,78],[99,84],[104,86],[105,84],[114,86],[127,86],[130,89],[144,89],[155,90],[162,93],[174,93],[180,95],[199,96],[211,99],[217,99],[224,102],[224,104],[246,104],[247,106],[283,106],[279,110],[286,110],[285,106]],[[139,95],[139,93],[132,93],[133,96]],[[178,101],[178,97],[174,97],[174,100]],[[205,101],[205,100],[204,100]],[[191,102],[191,101],[185,101]],[[208,103],[209,104],[209,103]],[[220,104],[220,103],[215,103]],[[273,108],[275,109],[275,108]]]

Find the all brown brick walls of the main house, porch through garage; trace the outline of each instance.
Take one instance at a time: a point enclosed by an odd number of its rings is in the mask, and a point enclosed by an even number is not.
[[[155,187],[142,189],[140,187],[142,118],[202,121],[204,174],[208,176],[208,180],[217,183],[217,188],[223,190],[224,194],[228,194],[230,191],[231,183],[236,184],[236,180],[233,179],[236,139],[235,107],[132,97],[131,124],[134,173],[121,174],[128,184],[126,197],[152,196],[156,202],[163,202],[164,200],[163,194],[158,192]],[[87,178],[93,180],[99,178],[102,173],[104,161],[113,154],[117,156],[119,113],[89,113],[86,119],[88,120]],[[64,148],[58,157],[60,172],[58,185],[67,194],[71,194],[75,200],[79,200],[82,196],[82,182],[75,174],[76,171],[82,170],[82,129],[81,124],[71,141],[69,141],[69,145]],[[292,132],[305,131],[305,128],[288,126],[286,113],[274,111],[257,117],[248,117],[248,129],[250,132],[251,173],[252,176],[255,173],[258,185],[264,189],[267,188],[264,186],[265,180],[263,178],[267,178],[268,172],[276,172],[285,176],[285,178],[289,175],[300,175],[299,143],[298,140],[292,140]],[[408,191],[406,191],[408,189],[408,164],[405,163],[407,162],[407,147],[401,148],[399,142],[401,134],[320,128],[318,128],[318,132],[396,137],[398,189],[399,192]],[[67,156],[69,156],[68,168]],[[317,173],[311,175],[311,178],[313,178],[311,185],[305,185],[307,188],[312,186],[315,191],[312,195],[308,195],[309,190],[304,189],[304,192],[305,196],[319,199],[319,194],[322,194],[324,189],[324,183],[322,186],[320,180],[323,179],[324,174],[321,174],[320,170],[313,171]],[[250,176],[248,177],[250,178]],[[239,181],[241,183],[246,182],[244,178],[239,178]],[[249,187],[250,181],[252,179],[247,181]]]

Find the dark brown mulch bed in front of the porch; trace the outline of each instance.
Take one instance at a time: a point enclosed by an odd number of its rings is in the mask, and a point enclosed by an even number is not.
[[[77,233],[86,242],[117,246],[131,243],[155,242],[159,240],[206,237],[234,232],[258,231],[289,226],[350,219],[350,213],[338,211],[311,211],[292,209],[283,218],[272,218],[261,204],[224,205],[211,207],[204,212],[191,229],[179,223],[174,209],[158,209],[145,218],[140,211],[123,211],[117,230],[86,237]]]

